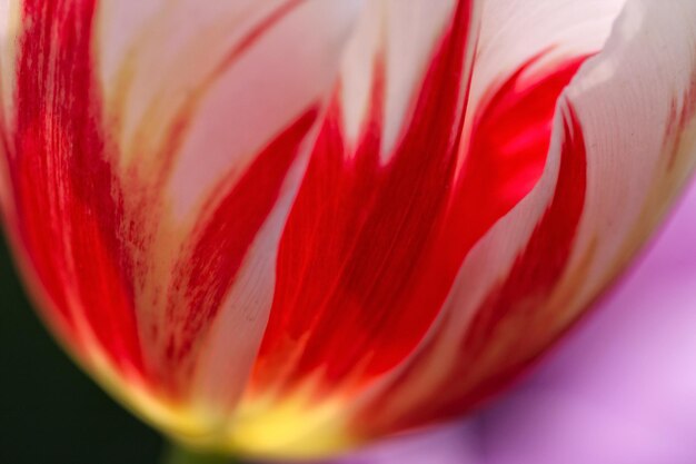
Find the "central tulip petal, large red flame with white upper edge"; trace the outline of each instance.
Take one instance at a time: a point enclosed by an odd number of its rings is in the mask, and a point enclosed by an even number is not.
[[[371,382],[446,295],[419,275],[449,200],[477,14],[467,0],[435,2],[409,34],[422,11],[365,11],[280,243],[252,396],[315,377],[334,395]]]

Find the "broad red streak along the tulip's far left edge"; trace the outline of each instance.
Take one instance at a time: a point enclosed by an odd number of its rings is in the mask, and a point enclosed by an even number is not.
[[[18,235],[58,317],[73,329],[87,322],[117,365],[142,371],[129,225],[92,71],[95,8],[23,2],[9,157]]]

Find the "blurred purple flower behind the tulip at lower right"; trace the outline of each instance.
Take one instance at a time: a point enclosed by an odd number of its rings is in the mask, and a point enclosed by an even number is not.
[[[336,464],[696,461],[696,182],[642,263],[529,378],[467,421]]]

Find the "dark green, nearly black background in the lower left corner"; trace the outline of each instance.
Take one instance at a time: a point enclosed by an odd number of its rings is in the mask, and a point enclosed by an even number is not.
[[[0,237],[0,464],[156,464],[161,438],[39,323]]]

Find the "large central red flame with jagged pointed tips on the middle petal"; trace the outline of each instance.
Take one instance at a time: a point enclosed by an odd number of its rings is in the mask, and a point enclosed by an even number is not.
[[[402,359],[437,315],[447,284],[425,288],[420,266],[453,188],[469,14],[461,1],[388,164],[380,63],[355,154],[346,154],[338,103],[329,113],[280,244],[256,387],[319,371],[327,385],[357,371],[367,382]]]

